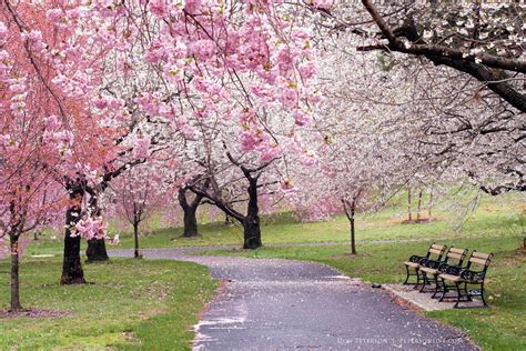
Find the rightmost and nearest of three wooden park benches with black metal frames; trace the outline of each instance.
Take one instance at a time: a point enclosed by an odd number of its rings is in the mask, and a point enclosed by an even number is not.
[[[438,274],[442,280],[442,297],[439,301],[444,301],[449,288],[456,288],[456,303],[454,308],[458,308],[459,302],[473,301],[472,297],[481,297],[484,307],[487,307],[484,300],[484,280],[486,278],[487,268],[492,261],[493,253],[482,253],[473,251],[464,268],[449,265],[444,273]],[[478,267],[478,270],[472,270],[472,267]],[[453,283],[453,284],[451,284]],[[467,285],[478,285],[478,289],[467,290]]]

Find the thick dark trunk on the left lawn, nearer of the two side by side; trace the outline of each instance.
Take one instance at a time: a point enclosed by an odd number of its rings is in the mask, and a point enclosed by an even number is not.
[[[80,235],[71,237],[71,228],[80,220],[80,208],[71,207],[65,212],[64,259],[61,284],[83,284],[84,272],[80,261]]]

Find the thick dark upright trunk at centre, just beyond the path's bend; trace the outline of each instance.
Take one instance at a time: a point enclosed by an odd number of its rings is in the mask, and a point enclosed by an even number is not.
[[[243,249],[254,250],[262,245],[260,228],[260,209],[257,207],[257,179],[249,179],[249,205],[243,219]]]

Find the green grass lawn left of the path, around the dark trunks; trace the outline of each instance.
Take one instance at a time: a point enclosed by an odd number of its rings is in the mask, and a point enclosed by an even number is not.
[[[58,318],[0,319],[0,350],[189,350],[198,313],[216,283],[204,267],[176,261],[113,259],[85,264],[94,284],[60,285],[59,259],[24,259],[24,308]],[[0,307],[9,304],[9,264],[0,261]]]

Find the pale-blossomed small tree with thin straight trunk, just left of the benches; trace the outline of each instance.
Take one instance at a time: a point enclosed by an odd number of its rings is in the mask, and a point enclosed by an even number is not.
[[[449,176],[456,169],[437,152],[437,138],[426,133],[436,118],[432,112],[439,111],[435,106],[427,114],[429,88],[421,83],[425,89],[416,92],[397,83],[417,70],[408,64],[386,68],[383,57],[354,51],[348,38],[323,44],[318,81],[327,98],[314,126],[300,134],[315,152],[303,150],[304,164],[291,167],[297,190],[289,201],[304,219],[344,212],[355,253],[358,211],[377,210],[407,184],[433,183],[444,169]]]

